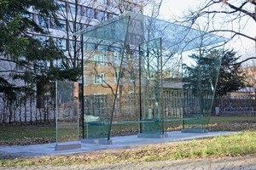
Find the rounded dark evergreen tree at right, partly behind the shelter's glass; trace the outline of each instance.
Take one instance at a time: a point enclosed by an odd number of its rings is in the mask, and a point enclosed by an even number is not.
[[[216,70],[218,65],[216,57],[222,58],[219,73]],[[238,62],[240,56],[236,56],[236,52],[233,50],[226,50],[224,52],[212,50],[204,54],[204,56],[191,54],[189,58],[193,59],[196,65],[183,65],[183,81],[192,82],[191,85],[194,86],[196,91],[200,88],[211,91],[216,83],[213,80],[216,80],[215,77],[217,76],[218,81],[215,94],[218,96],[223,96],[246,86],[244,77],[241,74],[241,63]],[[199,86],[199,84],[201,87],[195,87]]]

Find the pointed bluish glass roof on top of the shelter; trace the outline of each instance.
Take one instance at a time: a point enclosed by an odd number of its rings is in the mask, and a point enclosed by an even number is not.
[[[228,38],[205,31],[135,13],[121,14],[75,34],[134,46],[161,37],[163,49],[172,52],[183,52],[229,41]]]

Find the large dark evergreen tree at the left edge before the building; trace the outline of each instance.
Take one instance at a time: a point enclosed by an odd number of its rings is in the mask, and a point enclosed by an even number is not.
[[[1,0],[0,2],[0,93],[10,100],[15,94],[31,91],[37,79],[48,79],[52,61],[62,58],[62,52],[49,37],[49,26],[38,26],[32,11],[42,20],[56,19],[54,0]],[[43,35],[44,41],[38,38]],[[51,63],[50,66],[42,63]],[[17,84],[15,80],[24,82]],[[29,86],[28,86],[29,85]]]

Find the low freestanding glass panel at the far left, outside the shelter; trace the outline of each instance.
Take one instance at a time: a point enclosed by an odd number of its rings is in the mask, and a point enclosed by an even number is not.
[[[55,83],[56,144],[79,141],[79,83]]]

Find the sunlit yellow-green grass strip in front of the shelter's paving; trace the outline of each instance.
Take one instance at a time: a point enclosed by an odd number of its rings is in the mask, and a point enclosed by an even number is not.
[[[131,150],[100,150],[64,156],[1,159],[0,167],[31,165],[71,165],[166,161],[190,158],[246,156],[256,153],[256,131],[249,130],[212,139],[196,139],[169,144],[152,144]]]

